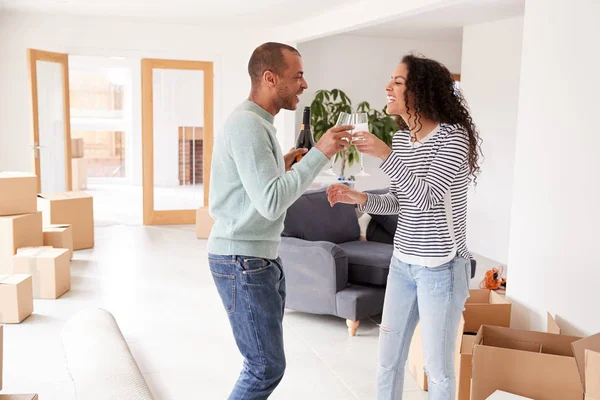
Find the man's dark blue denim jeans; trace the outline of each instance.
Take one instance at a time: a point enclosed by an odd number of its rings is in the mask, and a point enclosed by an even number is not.
[[[281,259],[209,254],[210,270],[244,356],[229,400],[266,399],[285,371]]]

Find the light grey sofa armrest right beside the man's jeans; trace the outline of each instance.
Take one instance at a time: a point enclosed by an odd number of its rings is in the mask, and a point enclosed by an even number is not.
[[[330,242],[282,237],[279,256],[286,279],[286,307],[337,315],[336,293],[348,284],[348,258]]]

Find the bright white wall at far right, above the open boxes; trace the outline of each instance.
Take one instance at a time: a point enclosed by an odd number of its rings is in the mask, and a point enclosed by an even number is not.
[[[516,327],[600,331],[600,2],[528,0],[507,295]]]

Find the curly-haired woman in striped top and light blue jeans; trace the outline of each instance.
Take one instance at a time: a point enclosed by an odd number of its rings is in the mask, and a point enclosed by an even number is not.
[[[390,191],[372,195],[332,185],[329,202],[398,214],[379,339],[377,399],[401,399],[404,365],[420,321],[429,399],[454,399],[454,345],[469,297],[467,191],[479,172],[479,134],[450,72],[406,56],[386,86],[400,130],[392,149],[368,132],[357,150],[383,160]]]

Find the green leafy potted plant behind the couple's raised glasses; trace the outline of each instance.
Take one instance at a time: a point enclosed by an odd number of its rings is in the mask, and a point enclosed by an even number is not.
[[[311,125],[318,141],[328,129],[335,126],[338,116],[341,112],[352,113],[352,101],[339,89],[319,90],[315,93],[315,98],[310,105]],[[363,101],[359,103],[356,112],[367,113],[369,119],[369,132],[383,140],[388,146],[392,145],[394,132],[398,130],[396,121],[385,112],[372,109],[369,103]],[[335,155],[335,159],[342,159],[342,168],[340,176],[344,177],[346,166],[350,167],[359,159],[358,152],[354,146]]]

